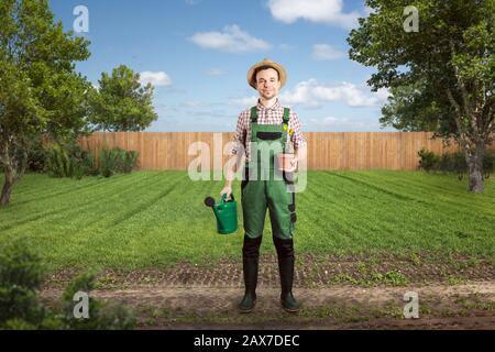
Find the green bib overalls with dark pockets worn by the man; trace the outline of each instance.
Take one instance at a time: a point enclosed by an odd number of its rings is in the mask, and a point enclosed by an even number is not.
[[[277,150],[286,152],[289,112],[289,109],[284,109],[282,124],[258,124],[257,108],[251,108],[251,142],[255,143],[251,143],[251,165],[246,163],[245,179],[241,184],[244,231],[250,239],[262,237],[266,208],[270,210],[274,238],[293,239],[296,204],[294,189],[289,189],[293,184],[292,174],[278,170],[275,163]],[[266,153],[262,153],[257,143],[273,146],[268,161],[266,157],[262,160]],[[254,164],[257,165],[256,168],[253,167]],[[267,173],[270,177],[262,177]]]

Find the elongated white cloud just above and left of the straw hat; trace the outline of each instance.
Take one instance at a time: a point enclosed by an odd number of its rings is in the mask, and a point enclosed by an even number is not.
[[[222,32],[198,32],[190,40],[201,47],[218,48],[229,53],[263,51],[271,47],[263,40],[251,36],[239,25],[228,25]]]

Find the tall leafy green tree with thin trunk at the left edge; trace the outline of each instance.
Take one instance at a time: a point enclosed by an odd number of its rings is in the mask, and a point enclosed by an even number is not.
[[[89,57],[89,42],[64,33],[47,0],[2,0],[0,23],[0,206],[7,206],[30,141],[84,128],[89,84],[73,62]]]

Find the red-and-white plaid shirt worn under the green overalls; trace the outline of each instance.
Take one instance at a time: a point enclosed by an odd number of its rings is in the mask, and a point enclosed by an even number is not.
[[[257,101],[257,123],[258,124],[282,124],[284,121],[284,107],[280,103],[275,102],[271,108],[265,108],[260,100]],[[290,109],[290,117],[288,122],[288,131],[294,130],[290,136],[290,142],[295,148],[306,144],[306,140],[300,131],[299,117]],[[287,132],[288,133],[288,132]],[[287,139],[288,140],[288,139]],[[238,125],[235,129],[235,135],[232,140],[235,146],[232,150],[232,154],[238,154],[238,151],[242,151],[241,145],[245,150],[245,157],[251,160],[251,109],[246,109],[241,112],[238,119]],[[246,143],[245,143],[246,142]],[[248,145],[246,145],[248,144]]]

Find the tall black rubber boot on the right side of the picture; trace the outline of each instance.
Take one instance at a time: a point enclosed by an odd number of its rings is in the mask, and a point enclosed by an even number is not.
[[[293,295],[294,280],[294,241],[273,238],[278,256],[278,272],[280,274],[280,304],[288,312],[298,312],[299,304]]]

